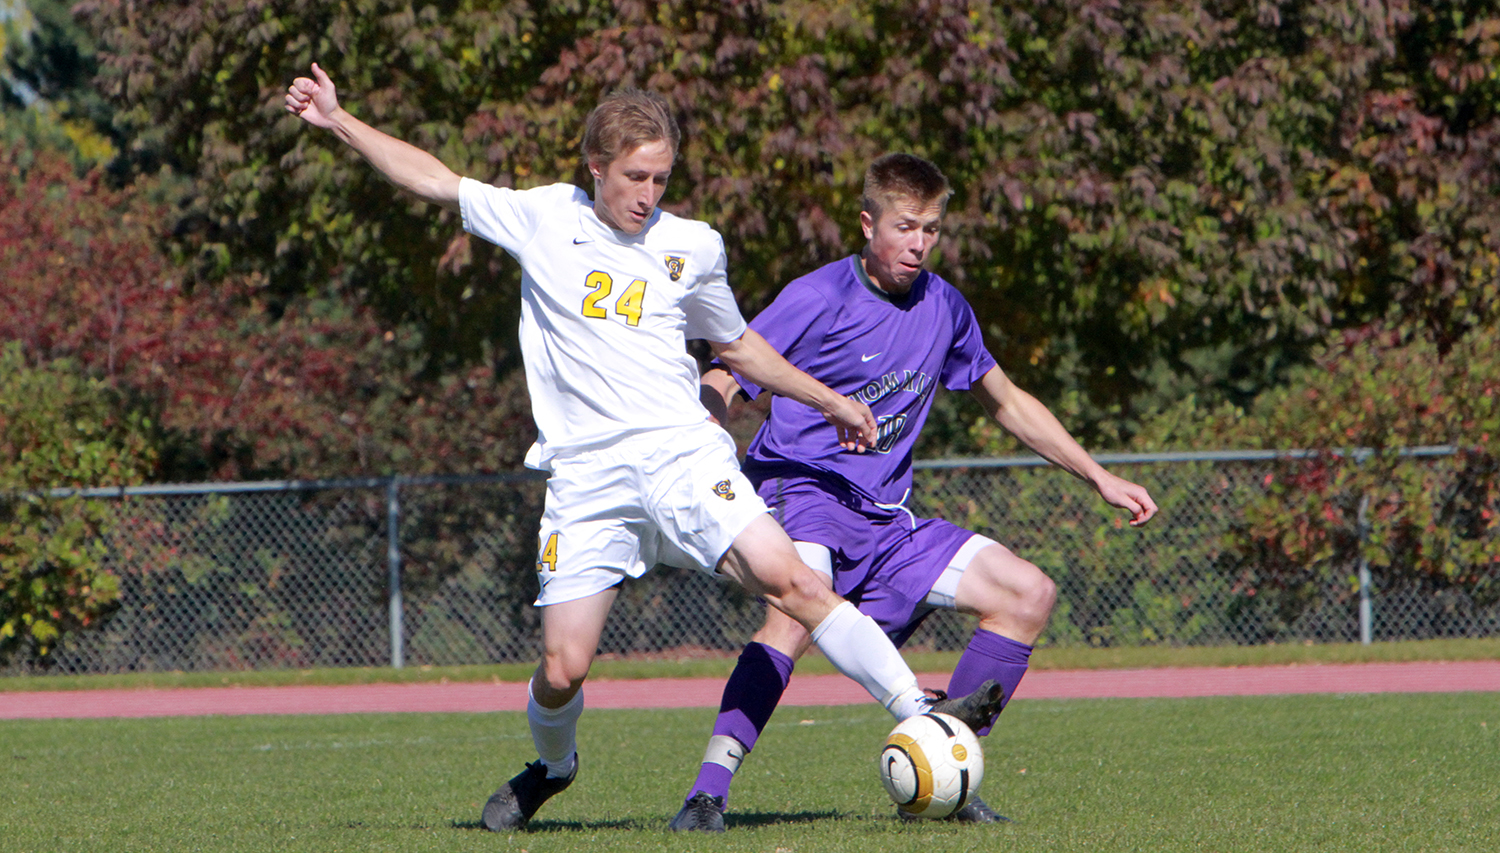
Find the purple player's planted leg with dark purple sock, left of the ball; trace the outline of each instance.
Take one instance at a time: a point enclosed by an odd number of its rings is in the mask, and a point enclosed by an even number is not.
[[[813,543],[795,543],[795,546],[802,562],[832,586],[832,561],[828,549]],[[670,829],[722,828],[722,820],[714,814],[706,811],[699,814],[699,810],[693,808],[693,801],[705,796],[706,805],[724,811],[735,772],[754,750],[760,732],[782,702],[782,694],[792,678],[792,667],[812,645],[812,636],[795,619],[776,607],[766,609],[765,624],[740,652],[740,661],[724,684],[718,717],[714,720],[714,732],[704,751],[698,778],[693,780],[682,811],[672,820]]]

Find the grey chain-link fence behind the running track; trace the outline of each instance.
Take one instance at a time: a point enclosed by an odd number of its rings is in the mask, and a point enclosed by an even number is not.
[[[1125,526],[1084,483],[1030,459],[918,463],[910,507],[1006,544],[1058,582],[1042,643],[1500,634],[1500,604],[1400,567],[1371,576],[1350,564],[1294,586],[1257,580],[1230,541],[1284,457],[1101,456],[1161,504],[1142,529]],[[87,492],[108,507],[120,606],[98,630],[69,637],[48,672],[532,661],[543,489],[519,474]],[[626,583],[600,652],[732,654],[762,613],[732,585],[658,567]],[[972,618],[938,612],[908,648],[960,649],[972,630]]]

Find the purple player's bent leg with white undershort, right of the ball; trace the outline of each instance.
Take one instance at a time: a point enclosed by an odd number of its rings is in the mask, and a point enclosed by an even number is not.
[[[1010,702],[1026,675],[1032,645],[1047,628],[1058,586],[1005,546],[974,537],[939,577],[928,601],[980,618],[980,627],[954,667],[948,691],[963,696],[975,685],[994,679],[1005,690],[1004,702]],[[984,727],[978,733],[987,732],[988,727]]]

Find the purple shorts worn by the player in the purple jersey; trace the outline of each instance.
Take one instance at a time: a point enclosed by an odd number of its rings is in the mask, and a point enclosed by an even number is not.
[[[770,477],[758,483],[758,492],[788,535],[831,552],[834,592],[854,601],[897,646],[934,610],[927,594],[974,537],[944,519],[879,507],[828,480]]]

